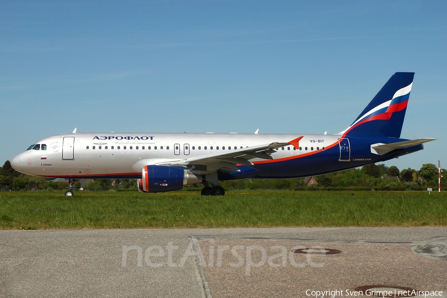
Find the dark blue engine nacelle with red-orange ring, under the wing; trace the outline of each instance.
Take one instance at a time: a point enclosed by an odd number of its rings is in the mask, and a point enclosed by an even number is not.
[[[170,165],[145,165],[142,178],[137,179],[140,192],[166,192],[182,189],[183,185],[202,182],[202,176],[192,174],[187,168]]]

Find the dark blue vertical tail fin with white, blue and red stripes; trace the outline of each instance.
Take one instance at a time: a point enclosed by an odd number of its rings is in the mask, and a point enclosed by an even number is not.
[[[414,73],[395,73],[342,135],[400,138]]]

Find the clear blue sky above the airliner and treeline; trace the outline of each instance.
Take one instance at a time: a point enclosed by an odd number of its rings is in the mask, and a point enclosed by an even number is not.
[[[445,1],[1,1],[0,163],[78,132],[338,133],[415,72],[386,162],[446,167]],[[443,160],[444,159],[444,160]]]

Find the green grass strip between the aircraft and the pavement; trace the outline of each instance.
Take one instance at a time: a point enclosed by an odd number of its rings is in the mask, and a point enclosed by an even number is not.
[[[0,192],[0,229],[447,225],[447,193]]]

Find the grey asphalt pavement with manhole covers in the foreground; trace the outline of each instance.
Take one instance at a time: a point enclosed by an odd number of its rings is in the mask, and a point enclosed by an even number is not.
[[[0,230],[0,297],[389,291],[447,297],[447,227]]]

